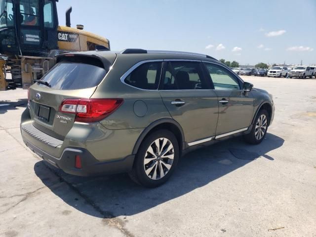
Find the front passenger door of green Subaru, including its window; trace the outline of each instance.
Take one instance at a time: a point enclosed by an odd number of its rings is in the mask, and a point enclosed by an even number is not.
[[[204,65],[218,96],[216,138],[247,130],[254,110],[252,93],[244,93],[242,80],[220,64],[204,62]]]

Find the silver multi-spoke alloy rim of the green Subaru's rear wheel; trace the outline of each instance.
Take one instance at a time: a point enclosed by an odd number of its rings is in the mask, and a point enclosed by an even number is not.
[[[163,178],[171,169],[174,148],[167,138],[156,139],[147,149],[144,157],[144,169],[153,180]]]

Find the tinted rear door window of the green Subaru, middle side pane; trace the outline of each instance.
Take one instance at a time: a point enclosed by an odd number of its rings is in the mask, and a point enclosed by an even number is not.
[[[167,61],[162,90],[208,89],[199,62]]]

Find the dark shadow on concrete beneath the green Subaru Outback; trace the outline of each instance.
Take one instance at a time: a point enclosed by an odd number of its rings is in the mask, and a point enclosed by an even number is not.
[[[44,161],[37,162],[34,170],[41,181],[70,206],[96,217],[113,218],[134,215],[181,197],[249,162],[256,162],[256,159],[273,162],[274,158],[267,153],[281,147],[283,142],[282,138],[268,133],[265,140],[256,146],[248,145],[241,137],[236,137],[201,148],[182,157],[169,181],[155,189],[133,183],[126,174],[102,177],[69,175]],[[78,204],[78,198],[70,198],[65,186],[52,185],[52,179],[56,179],[56,176],[50,171],[59,176],[60,182],[70,185],[80,198],[84,198],[97,211],[91,213],[87,205]]]

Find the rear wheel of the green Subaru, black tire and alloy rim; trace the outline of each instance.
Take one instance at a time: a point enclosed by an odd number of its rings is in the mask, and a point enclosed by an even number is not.
[[[165,129],[158,130],[142,142],[129,176],[145,187],[158,187],[170,178],[179,156],[175,135]]]

